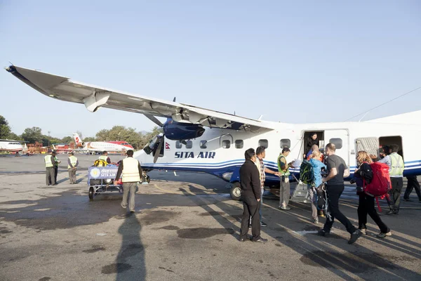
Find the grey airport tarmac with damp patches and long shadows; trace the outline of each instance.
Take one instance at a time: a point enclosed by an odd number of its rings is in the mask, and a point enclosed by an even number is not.
[[[352,245],[338,221],[330,237],[320,237],[309,204],[281,211],[268,193],[262,237],[269,242],[239,242],[243,207],[225,181],[152,171],[130,215],[121,195],[88,200],[87,168],[98,156],[75,156],[79,184],[69,184],[67,155],[58,155],[53,187],[45,185],[44,155],[0,157],[0,280],[421,280],[415,191],[399,215],[382,216],[392,237],[376,238],[368,218],[368,235]],[[357,226],[352,187],[341,202]]]

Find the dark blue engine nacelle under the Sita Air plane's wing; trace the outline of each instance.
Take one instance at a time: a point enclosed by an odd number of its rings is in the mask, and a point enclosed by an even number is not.
[[[173,141],[199,138],[205,132],[203,126],[199,124],[180,123],[175,122],[173,119],[169,119],[165,124],[163,124],[162,129],[166,138]]]

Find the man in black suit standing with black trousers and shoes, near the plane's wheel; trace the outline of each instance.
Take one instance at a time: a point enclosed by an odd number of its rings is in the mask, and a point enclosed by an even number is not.
[[[255,150],[249,148],[244,153],[246,161],[240,168],[241,200],[243,200],[243,217],[241,218],[240,241],[246,241],[248,225],[251,216],[251,234],[253,242],[267,242],[267,239],[260,237],[260,174],[258,167],[254,164],[256,160]]]

